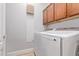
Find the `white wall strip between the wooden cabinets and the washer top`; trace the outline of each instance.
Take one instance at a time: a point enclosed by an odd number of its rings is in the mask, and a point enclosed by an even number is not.
[[[69,28],[69,27],[79,27],[79,18],[74,18],[73,20],[68,20],[60,23],[50,24],[48,28]]]

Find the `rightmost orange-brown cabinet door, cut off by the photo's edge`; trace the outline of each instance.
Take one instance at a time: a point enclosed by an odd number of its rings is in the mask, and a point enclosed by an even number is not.
[[[79,3],[67,4],[67,16],[73,16],[79,14]]]

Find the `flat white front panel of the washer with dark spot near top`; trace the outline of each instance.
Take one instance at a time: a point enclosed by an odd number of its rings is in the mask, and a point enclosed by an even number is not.
[[[42,50],[44,55],[60,56],[60,38],[43,35]]]

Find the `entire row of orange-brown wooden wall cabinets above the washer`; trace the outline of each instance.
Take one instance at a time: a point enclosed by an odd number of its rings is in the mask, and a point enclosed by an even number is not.
[[[51,3],[43,11],[44,24],[79,15],[79,3]]]

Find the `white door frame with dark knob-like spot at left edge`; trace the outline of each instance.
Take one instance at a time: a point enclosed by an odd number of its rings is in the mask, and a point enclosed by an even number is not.
[[[6,3],[1,4],[1,42],[2,42],[2,56],[6,55]]]

